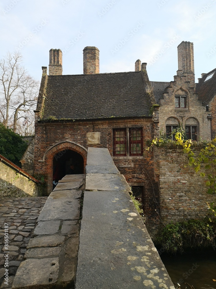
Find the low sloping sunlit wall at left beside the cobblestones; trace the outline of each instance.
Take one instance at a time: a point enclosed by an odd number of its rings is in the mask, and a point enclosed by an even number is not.
[[[0,198],[2,197],[38,197],[42,186],[17,173],[10,166],[0,162]]]

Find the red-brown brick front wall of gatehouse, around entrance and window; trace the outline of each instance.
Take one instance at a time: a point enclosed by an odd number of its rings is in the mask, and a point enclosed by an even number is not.
[[[37,118],[36,118],[37,119]],[[43,175],[47,184],[44,194],[52,191],[53,158],[56,153],[70,149],[78,152],[84,158],[86,164],[88,147],[107,148],[113,156],[113,127],[143,127],[143,146],[146,147],[146,140],[152,139],[153,122],[151,117],[134,119],[107,119],[92,121],[39,121],[35,123],[35,174]],[[87,134],[90,132],[99,133],[99,143],[89,144]],[[89,134],[88,134],[89,136]],[[50,149],[50,150],[49,150]],[[146,152],[144,156],[113,157],[127,181],[145,183],[145,210],[147,214],[156,214],[155,202],[159,199],[153,187],[154,182],[154,160],[153,153]],[[153,186],[152,186],[153,185]]]

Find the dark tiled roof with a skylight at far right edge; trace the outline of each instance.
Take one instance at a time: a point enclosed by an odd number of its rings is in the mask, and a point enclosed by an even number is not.
[[[213,77],[205,81],[206,77],[212,73],[214,73]],[[202,100],[203,105],[209,104],[216,95],[216,68],[200,79],[199,83],[196,84],[196,93],[198,93],[198,99]]]

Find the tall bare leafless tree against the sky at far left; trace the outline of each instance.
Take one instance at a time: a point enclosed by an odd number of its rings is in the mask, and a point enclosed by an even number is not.
[[[5,127],[12,127],[16,132],[20,121],[23,125],[29,123],[38,89],[39,82],[28,75],[22,65],[22,56],[7,53],[0,62],[0,120]]]

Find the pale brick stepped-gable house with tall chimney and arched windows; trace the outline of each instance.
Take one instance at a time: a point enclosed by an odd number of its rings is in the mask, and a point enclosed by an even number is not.
[[[195,91],[194,48],[192,42],[182,41],[178,46],[178,71],[174,81],[151,81],[154,96],[160,107],[160,130],[173,138],[177,127],[185,130],[187,139],[210,140],[209,111]]]

